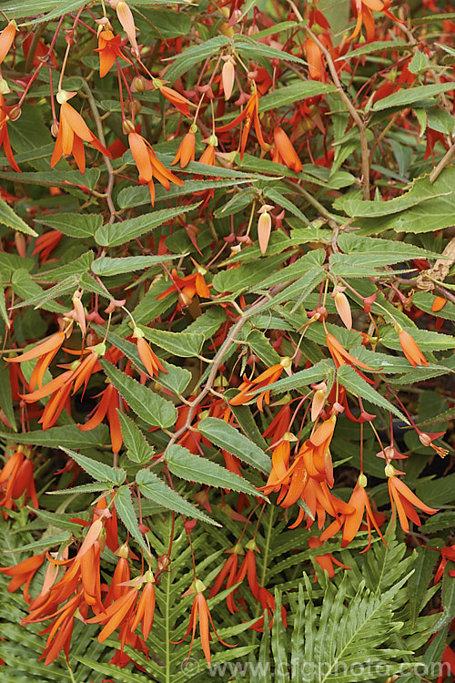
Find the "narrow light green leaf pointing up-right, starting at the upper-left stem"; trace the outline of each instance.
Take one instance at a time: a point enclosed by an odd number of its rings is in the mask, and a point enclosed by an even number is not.
[[[181,216],[197,206],[199,205],[191,204],[188,207],[161,209],[146,213],[143,216],[137,216],[136,219],[124,220],[122,223],[106,223],[96,230],[96,244],[100,244],[102,247],[118,247],[119,244],[134,240],[136,237],[162,226],[167,220]]]

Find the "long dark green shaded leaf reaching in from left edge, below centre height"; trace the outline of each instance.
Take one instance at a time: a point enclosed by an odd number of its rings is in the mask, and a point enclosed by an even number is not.
[[[0,437],[10,439],[11,434],[0,432]],[[32,443],[35,446],[48,446],[49,448],[55,448],[56,444],[59,447],[93,448],[110,443],[106,424],[98,424],[90,432],[81,432],[76,424],[66,424],[65,427],[51,427],[45,432],[38,430],[37,432],[17,433],[15,442]]]

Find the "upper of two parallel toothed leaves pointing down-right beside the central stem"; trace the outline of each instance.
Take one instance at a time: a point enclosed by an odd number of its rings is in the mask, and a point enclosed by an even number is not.
[[[270,458],[256,443],[251,442],[238,430],[217,417],[206,417],[197,425],[198,431],[208,441],[215,443],[230,454],[237,455],[244,463],[256,467],[261,472],[270,471]]]

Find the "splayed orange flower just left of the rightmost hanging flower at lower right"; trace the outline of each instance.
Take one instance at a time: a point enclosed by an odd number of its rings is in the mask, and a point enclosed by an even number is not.
[[[367,527],[369,532],[369,544],[362,550],[365,553],[371,545],[371,525],[374,526],[382,541],[387,545],[383,535],[380,533],[378,523],[376,522],[371,505],[369,505],[369,497],[365,491],[367,485],[367,477],[364,474],[359,474],[358,482],[349,498],[349,505],[352,505],[354,512],[349,515],[340,515],[334,522],[327,527],[320,535],[321,541],[326,541],[331,536],[337,534],[341,527],[343,527],[343,536],[341,547],[345,548],[353,540],[354,536],[359,531],[362,524],[363,515],[367,515]]]

